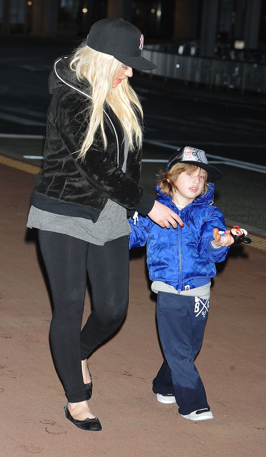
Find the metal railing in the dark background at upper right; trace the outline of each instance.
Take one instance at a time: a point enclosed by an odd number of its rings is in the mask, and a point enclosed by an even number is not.
[[[151,74],[198,84],[266,93],[266,65],[216,58],[170,54],[143,49],[157,65]]]

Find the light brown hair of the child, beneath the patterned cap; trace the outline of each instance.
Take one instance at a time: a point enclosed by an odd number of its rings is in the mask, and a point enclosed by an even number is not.
[[[157,175],[160,180],[157,182],[158,187],[161,189],[161,191],[164,192],[165,195],[171,195],[173,197],[173,187],[174,189],[178,190],[175,182],[177,178],[183,173],[183,171],[189,171],[190,173],[194,173],[194,171],[199,170],[200,167],[197,167],[196,165],[190,165],[190,164],[182,164],[178,163],[175,164],[168,173],[165,173],[164,171],[160,171],[159,174]],[[201,195],[198,197],[202,197],[205,195],[205,193],[208,191],[209,183],[207,182],[207,171],[203,170],[204,173],[206,174],[205,177],[205,183],[204,187],[202,190]],[[169,179],[169,182],[167,181]]]

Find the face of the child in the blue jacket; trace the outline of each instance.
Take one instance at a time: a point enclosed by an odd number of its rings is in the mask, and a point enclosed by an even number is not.
[[[188,205],[203,191],[206,171],[201,168],[192,171],[183,171],[175,181],[177,190],[173,187],[173,202],[180,206]]]

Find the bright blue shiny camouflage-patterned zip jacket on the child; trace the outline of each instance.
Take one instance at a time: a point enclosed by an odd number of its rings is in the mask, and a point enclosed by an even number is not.
[[[156,188],[157,192],[161,192]],[[129,219],[132,233],[129,235],[129,247],[144,246],[147,243],[147,263],[152,281],[162,281],[174,286],[178,291],[200,287],[216,274],[214,262],[225,259],[229,247],[213,248],[212,232],[215,227],[226,230],[225,219],[220,209],[212,206],[214,184],[208,192],[196,198],[182,210],[179,210],[171,196],[161,192],[158,201],[178,213],[184,227],[161,228],[150,218],[138,215],[134,225]]]

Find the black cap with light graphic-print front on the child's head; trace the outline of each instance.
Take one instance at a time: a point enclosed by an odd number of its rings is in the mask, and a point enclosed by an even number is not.
[[[166,167],[166,172],[168,173],[175,164],[179,163],[195,165],[196,167],[200,167],[202,170],[207,171],[208,182],[220,181],[223,177],[223,174],[217,168],[208,164],[205,152],[201,149],[191,148],[190,146],[178,149],[171,155]]]

